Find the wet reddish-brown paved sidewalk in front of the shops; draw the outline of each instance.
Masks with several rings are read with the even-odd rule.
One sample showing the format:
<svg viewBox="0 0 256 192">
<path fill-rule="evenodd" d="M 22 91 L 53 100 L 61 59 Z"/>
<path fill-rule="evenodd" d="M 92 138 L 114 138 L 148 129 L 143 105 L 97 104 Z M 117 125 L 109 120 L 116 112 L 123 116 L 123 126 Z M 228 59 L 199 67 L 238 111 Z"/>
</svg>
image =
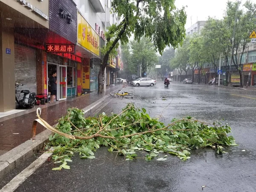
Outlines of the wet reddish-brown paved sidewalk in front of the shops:
<svg viewBox="0 0 256 192">
<path fill-rule="evenodd" d="M 64 116 L 68 108 L 85 108 L 102 97 L 109 95 L 113 90 L 121 89 L 121 86 L 121 84 L 117 84 L 115 86 L 106 87 L 105 94 L 98 95 L 97 91 L 94 91 L 72 99 L 40 105 L 37 106 L 37 108 L 42 108 L 41 117 L 44 120 L 50 125 L 55 125 L 56 120 Z M 37 119 L 35 111 L 36 108 L 33 108 L 0 118 L 0 156 L 31 139 L 32 122 Z M 36 134 L 44 130 L 46 130 L 46 128 L 38 123 Z"/>
</svg>

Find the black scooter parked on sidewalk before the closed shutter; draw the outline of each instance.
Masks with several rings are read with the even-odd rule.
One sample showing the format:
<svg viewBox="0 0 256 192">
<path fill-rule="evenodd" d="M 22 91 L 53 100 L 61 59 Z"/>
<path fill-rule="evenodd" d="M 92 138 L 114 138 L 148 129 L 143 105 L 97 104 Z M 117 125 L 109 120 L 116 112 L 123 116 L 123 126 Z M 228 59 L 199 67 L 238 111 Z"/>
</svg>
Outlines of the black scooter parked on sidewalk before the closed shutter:
<svg viewBox="0 0 256 192">
<path fill-rule="evenodd" d="M 25 84 L 18 84 L 15 83 L 15 100 L 17 102 L 17 108 L 32 108 L 36 104 L 36 99 L 35 99 L 35 93 L 31 93 L 29 90 L 21 90 L 20 93 L 23 93 L 22 99 L 18 100 L 20 97 L 17 96 L 18 88 L 19 86 L 26 86 Z"/>
</svg>

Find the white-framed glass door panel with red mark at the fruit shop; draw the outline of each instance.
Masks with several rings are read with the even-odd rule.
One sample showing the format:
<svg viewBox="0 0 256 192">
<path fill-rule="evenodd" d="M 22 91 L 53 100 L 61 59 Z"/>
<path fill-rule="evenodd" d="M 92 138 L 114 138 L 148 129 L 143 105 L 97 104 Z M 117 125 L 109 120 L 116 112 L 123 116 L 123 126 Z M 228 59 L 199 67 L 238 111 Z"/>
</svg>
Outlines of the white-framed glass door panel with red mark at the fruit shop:
<svg viewBox="0 0 256 192">
<path fill-rule="evenodd" d="M 58 66 L 58 100 L 67 99 L 67 66 Z"/>
</svg>

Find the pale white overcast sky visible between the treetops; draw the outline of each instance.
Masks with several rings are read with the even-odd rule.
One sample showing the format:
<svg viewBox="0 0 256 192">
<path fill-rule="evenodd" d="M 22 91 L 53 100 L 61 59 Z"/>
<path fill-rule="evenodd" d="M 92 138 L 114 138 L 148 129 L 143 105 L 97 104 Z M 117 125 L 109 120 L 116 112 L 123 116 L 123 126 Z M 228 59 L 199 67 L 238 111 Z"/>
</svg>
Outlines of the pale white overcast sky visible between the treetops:
<svg viewBox="0 0 256 192">
<path fill-rule="evenodd" d="M 187 6 L 187 29 L 191 26 L 191 17 L 192 24 L 196 23 L 197 20 L 207 20 L 208 16 L 215 16 L 217 19 L 221 19 L 223 17 L 224 10 L 226 9 L 227 1 L 228 0 L 176 0 L 175 5 L 179 9 L 182 6 Z M 235 2 L 236 0 L 231 1 Z M 245 1 L 246 0 L 242 0 L 242 4 Z M 252 1 L 256 3 L 256 0 Z"/>
</svg>

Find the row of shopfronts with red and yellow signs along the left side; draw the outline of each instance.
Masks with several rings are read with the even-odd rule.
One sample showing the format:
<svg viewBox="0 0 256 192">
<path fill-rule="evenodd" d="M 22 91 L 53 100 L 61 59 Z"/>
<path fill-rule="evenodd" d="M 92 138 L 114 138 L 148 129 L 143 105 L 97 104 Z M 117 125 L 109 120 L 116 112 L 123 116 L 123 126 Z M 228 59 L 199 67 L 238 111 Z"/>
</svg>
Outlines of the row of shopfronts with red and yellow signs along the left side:
<svg viewBox="0 0 256 192">
<path fill-rule="evenodd" d="M 54 72 L 56 100 L 97 90 L 110 8 L 111 0 L 0 0 L 0 112 L 15 109 L 15 82 L 49 95 Z M 113 73 L 120 64 L 116 55 Z"/>
</svg>

